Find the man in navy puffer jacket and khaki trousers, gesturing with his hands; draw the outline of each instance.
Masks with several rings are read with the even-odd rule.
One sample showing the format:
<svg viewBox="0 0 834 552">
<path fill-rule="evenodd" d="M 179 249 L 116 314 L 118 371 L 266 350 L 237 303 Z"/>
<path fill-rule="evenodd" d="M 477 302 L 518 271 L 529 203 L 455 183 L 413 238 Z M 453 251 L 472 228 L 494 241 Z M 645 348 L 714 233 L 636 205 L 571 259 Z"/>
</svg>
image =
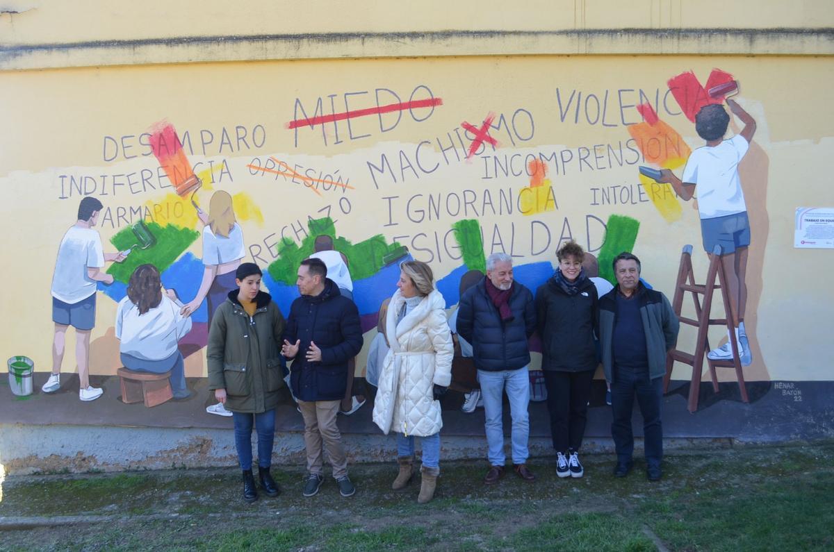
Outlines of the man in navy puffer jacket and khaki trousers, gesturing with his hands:
<svg viewBox="0 0 834 552">
<path fill-rule="evenodd" d="M 289 380 L 304 416 L 309 472 L 304 496 L 318 493 L 324 480 L 323 441 L 339 492 L 350 496 L 355 489 L 348 479 L 336 414 L 347 384 L 348 361 L 362 349 L 359 311 L 327 278 L 327 267 L 320 258 L 301 261 L 298 286 L 301 297 L 289 309 L 281 354 L 293 361 Z"/>
</svg>

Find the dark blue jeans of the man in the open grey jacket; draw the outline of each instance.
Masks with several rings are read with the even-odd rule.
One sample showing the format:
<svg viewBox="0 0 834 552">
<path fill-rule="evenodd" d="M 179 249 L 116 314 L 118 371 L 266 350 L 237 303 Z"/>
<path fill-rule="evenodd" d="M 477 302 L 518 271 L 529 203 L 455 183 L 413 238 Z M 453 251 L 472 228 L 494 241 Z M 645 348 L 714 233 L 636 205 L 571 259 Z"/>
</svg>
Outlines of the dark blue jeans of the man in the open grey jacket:
<svg viewBox="0 0 834 552">
<path fill-rule="evenodd" d="M 634 398 L 640 405 L 643 416 L 643 441 L 646 449 L 646 464 L 660 466 L 663 458 L 663 426 L 661 425 L 661 396 L 663 378 L 649 379 L 649 370 L 634 370 L 614 367 L 614 381 L 611 382 L 611 437 L 617 451 L 617 462 L 631 462 L 634 453 L 634 434 L 631 432 L 631 413 Z"/>
</svg>

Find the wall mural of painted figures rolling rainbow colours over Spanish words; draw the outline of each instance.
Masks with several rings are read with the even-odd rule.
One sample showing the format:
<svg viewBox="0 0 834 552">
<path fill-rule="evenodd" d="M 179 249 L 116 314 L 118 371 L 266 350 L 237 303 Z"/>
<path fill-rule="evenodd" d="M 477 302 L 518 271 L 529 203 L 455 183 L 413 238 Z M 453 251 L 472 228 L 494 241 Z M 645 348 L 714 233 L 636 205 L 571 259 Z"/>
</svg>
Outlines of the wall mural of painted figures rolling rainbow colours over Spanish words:
<svg viewBox="0 0 834 552">
<path fill-rule="evenodd" d="M 490 253 L 510 254 L 515 278 L 536 289 L 553 273 L 556 248 L 575 240 L 610 284 L 617 253 L 641 255 L 644 283 L 670 299 L 686 244 L 700 284 L 716 256 L 726 285 L 706 318 L 725 324 L 713 324 L 695 364 L 705 381 L 709 360 L 729 364 L 716 364 L 715 386 L 698 391 L 692 410 L 741 400 L 727 368 L 734 362 L 755 407 L 786 388 L 771 383 L 758 315 L 772 238 L 769 153 L 756 128 L 766 128 L 769 106 L 756 102 L 755 89 L 739 93 L 741 81 L 730 67 L 707 74 L 678 67 L 651 89 L 556 86 L 546 106 L 523 102 L 528 83 L 517 84 L 517 104 L 506 88 L 500 101 L 485 89 L 461 102 L 442 83 L 420 80 L 326 94 L 299 84 L 269 100 L 279 125 L 187 127 L 172 105 L 156 119 L 114 128 L 91 146 L 100 149 L 98 167 L 52 171 L 54 194 L 43 201 L 62 213 L 64 233 L 50 239 L 58 244 L 50 297 L 46 290 L 33 297 L 51 301 L 52 320 L 27 321 L 32 331 L 50 329 L 52 352 L 15 349 L 19 377 L 4 400 L 49 409 L 50 395 L 71 392 L 85 402 L 150 408 L 210 403 L 194 382 L 205 376 L 208 324 L 235 289 L 234 269 L 264 268 L 265 287 L 286 314 L 299 296 L 299 262 L 322 243 L 349 271 L 365 335 L 355 375 L 364 379 L 402 260 L 435 268 L 451 314 L 461 278 L 485 270 Z M 490 106 L 494 100 L 505 108 Z M 441 127 L 439 115 L 452 106 L 463 110 L 442 120 L 459 123 Z M 264 107 L 253 106 L 253 117 Z M 575 144 L 577 128 L 600 138 Z M 546 143 L 555 133 L 573 145 Z M 691 299 L 681 309 L 697 321 Z M 678 349 L 696 351 L 697 330 L 682 331 Z M 535 336 L 531 347 L 540 350 Z M 534 354 L 530 369 L 539 363 Z M 36 377 L 24 389 L 31 364 Z M 91 373 L 112 379 L 106 392 Z M 676 363 L 670 374 L 671 392 L 689 393 L 691 366 Z"/>
</svg>

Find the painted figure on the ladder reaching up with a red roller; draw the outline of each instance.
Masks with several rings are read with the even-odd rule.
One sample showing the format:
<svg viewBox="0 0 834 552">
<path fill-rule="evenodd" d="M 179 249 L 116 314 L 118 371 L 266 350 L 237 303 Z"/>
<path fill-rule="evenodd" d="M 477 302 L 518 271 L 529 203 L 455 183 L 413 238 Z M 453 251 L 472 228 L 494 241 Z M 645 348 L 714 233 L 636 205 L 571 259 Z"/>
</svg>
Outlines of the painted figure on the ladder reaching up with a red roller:
<svg viewBox="0 0 834 552">
<path fill-rule="evenodd" d="M 710 88 L 709 94 L 712 99 L 720 99 L 727 94 L 735 95 L 738 88 L 737 81 L 730 81 Z M 706 140 L 706 146 L 692 152 L 686 161 L 682 178 L 677 178 L 669 169 L 662 169 L 657 181 L 670 183 L 684 200 L 692 198 L 696 191 L 698 193 L 704 248 L 711 252 L 716 245 L 721 245 L 721 263 L 727 274 L 729 288 L 729 315 L 735 328 L 735 334 L 728 335 L 728 338 L 736 339 L 741 364 L 746 366 L 752 362 L 744 327 L 750 223 L 741 190 L 738 164 L 747 153 L 753 134 L 756 133 L 756 121 L 735 100 L 727 99 L 726 104 L 744 124 L 741 133 L 725 140 L 724 134 L 730 123 L 729 114 L 720 103 L 702 107 L 696 114 L 695 128 L 698 135 Z M 707 358 L 732 359 L 731 342 L 711 350 Z"/>
</svg>

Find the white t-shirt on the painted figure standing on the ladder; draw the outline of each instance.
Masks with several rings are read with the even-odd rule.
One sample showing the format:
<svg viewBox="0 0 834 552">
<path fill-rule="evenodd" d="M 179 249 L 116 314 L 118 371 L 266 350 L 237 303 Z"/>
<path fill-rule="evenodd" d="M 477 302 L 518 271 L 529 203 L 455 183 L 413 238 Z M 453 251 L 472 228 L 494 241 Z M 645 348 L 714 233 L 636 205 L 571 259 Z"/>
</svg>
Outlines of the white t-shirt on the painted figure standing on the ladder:
<svg viewBox="0 0 834 552">
<path fill-rule="evenodd" d="M 736 134 L 715 147 L 697 148 L 686 160 L 681 180 L 697 185 L 701 218 L 725 217 L 747 210 L 738 178 L 738 163 L 748 148 L 747 140 Z"/>
</svg>

